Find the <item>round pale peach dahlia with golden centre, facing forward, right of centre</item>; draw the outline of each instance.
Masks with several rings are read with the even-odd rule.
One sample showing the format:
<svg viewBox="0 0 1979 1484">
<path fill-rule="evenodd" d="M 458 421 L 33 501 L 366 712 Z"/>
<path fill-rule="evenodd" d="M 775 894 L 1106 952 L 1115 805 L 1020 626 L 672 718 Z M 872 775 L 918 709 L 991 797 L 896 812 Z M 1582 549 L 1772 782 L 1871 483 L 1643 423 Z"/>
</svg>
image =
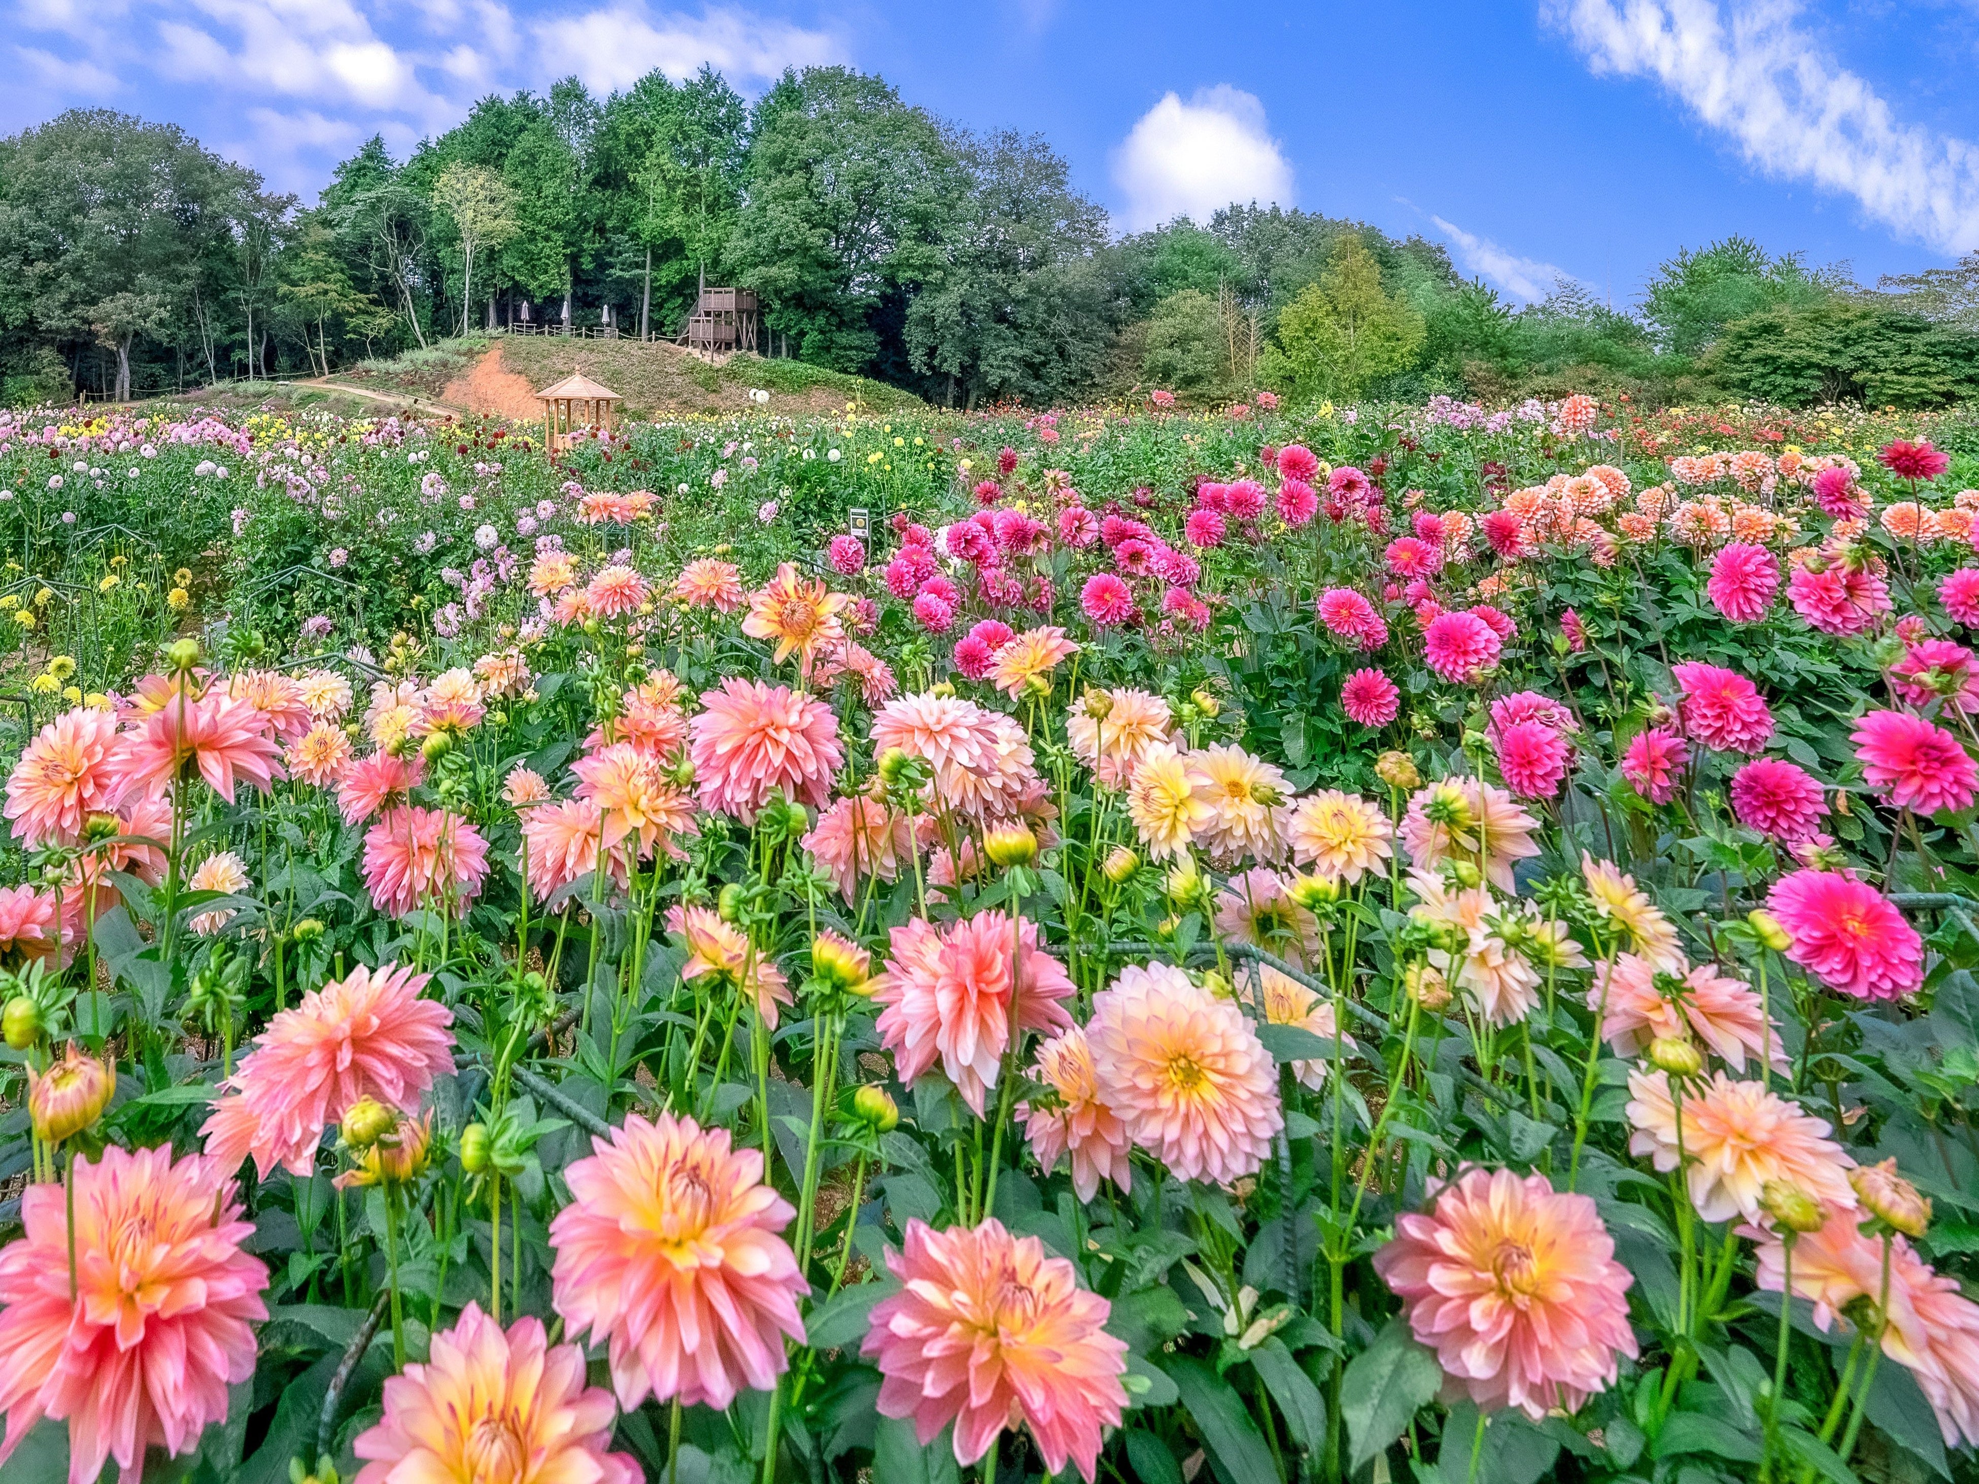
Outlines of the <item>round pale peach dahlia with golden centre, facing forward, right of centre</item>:
<svg viewBox="0 0 1979 1484">
<path fill-rule="evenodd" d="M 1170 964 L 1130 964 L 1092 999 L 1098 1096 L 1181 1179 L 1257 1173 L 1284 1126 L 1278 1074 L 1245 1013 Z"/>
</svg>

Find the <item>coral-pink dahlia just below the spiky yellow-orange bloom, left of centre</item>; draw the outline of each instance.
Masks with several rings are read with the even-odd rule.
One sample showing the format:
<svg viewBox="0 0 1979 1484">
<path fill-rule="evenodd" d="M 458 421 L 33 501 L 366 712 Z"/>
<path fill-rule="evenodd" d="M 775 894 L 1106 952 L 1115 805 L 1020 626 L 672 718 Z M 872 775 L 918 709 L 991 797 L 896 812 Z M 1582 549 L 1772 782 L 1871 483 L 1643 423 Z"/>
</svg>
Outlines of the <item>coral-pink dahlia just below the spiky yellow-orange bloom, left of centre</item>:
<svg viewBox="0 0 1979 1484">
<path fill-rule="evenodd" d="M 689 724 L 701 803 L 756 823 L 778 793 L 821 809 L 831 778 L 845 762 L 839 718 L 823 700 L 788 687 L 730 677 L 701 693 L 703 710 Z"/>
</svg>

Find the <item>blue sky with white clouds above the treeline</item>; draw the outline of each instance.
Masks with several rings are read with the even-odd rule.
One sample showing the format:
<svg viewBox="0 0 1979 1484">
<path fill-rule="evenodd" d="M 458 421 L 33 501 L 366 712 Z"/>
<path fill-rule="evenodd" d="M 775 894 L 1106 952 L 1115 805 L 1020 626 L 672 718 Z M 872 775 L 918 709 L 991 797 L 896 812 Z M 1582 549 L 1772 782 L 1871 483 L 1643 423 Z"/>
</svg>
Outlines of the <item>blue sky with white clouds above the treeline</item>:
<svg viewBox="0 0 1979 1484">
<path fill-rule="evenodd" d="M 170 119 L 305 200 L 487 91 L 712 61 L 887 75 L 1043 133 L 1116 230 L 1276 200 L 1421 232 L 1512 299 L 1617 307 L 1743 232 L 1856 277 L 1979 249 L 1979 0 L 0 0 L 0 131 Z"/>
</svg>

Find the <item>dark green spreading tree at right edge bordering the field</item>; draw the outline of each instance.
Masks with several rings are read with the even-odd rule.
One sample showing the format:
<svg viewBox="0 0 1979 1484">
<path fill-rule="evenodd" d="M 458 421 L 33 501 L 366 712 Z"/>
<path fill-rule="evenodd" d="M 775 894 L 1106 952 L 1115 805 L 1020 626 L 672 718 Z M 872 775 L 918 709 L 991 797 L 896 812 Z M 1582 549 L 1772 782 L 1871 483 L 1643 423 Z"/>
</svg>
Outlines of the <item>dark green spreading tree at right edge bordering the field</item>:
<svg viewBox="0 0 1979 1484">
<path fill-rule="evenodd" d="M 1787 406 L 1928 408 L 1979 392 L 1979 336 L 1837 295 L 1734 321 L 1704 366 L 1734 392 Z"/>
</svg>

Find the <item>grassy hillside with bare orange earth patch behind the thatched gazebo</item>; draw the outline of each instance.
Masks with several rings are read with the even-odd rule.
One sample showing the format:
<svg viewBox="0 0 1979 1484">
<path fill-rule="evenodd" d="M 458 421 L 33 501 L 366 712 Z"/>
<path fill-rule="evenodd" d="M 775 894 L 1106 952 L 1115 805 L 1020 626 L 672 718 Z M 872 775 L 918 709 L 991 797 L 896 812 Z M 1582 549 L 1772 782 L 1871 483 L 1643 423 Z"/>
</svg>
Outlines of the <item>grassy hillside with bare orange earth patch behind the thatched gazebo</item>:
<svg viewBox="0 0 1979 1484">
<path fill-rule="evenodd" d="M 574 368 L 623 394 L 633 417 L 746 412 L 758 406 L 748 396 L 758 388 L 770 392 L 768 410 L 784 414 L 829 412 L 847 402 L 875 412 L 920 406 L 918 398 L 883 382 L 798 360 L 736 356 L 726 366 L 708 366 L 675 344 L 534 334 L 441 340 L 394 360 L 364 362 L 338 372 L 336 380 L 469 412 L 534 417 L 532 392 Z"/>
</svg>

